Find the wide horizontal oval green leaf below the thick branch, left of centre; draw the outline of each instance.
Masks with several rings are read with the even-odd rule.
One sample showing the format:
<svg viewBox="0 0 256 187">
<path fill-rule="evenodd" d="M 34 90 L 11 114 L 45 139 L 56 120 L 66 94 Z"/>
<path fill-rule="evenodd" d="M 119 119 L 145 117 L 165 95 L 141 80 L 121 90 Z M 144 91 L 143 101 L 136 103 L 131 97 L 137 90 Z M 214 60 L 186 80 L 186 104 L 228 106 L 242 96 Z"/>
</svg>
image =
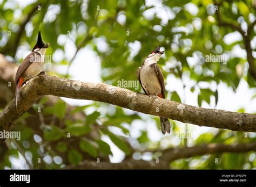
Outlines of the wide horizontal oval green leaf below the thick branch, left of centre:
<svg viewBox="0 0 256 187">
<path fill-rule="evenodd" d="M 69 125 L 65 130 L 73 136 L 81 136 L 89 133 L 91 131 L 91 127 L 89 125 L 78 123 Z"/>
</svg>

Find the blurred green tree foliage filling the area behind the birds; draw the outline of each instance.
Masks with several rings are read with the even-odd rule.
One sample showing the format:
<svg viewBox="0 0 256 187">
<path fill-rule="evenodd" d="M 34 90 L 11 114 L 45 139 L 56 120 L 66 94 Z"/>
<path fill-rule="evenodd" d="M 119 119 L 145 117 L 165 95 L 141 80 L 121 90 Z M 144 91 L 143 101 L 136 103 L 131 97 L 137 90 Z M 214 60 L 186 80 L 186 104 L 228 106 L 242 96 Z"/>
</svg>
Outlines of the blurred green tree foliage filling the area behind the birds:
<svg viewBox="0 0 256 187">
<path fill-rule="evenodd" d="M 13 44 L 16 44 L 14 42 L 18 41 L 17 45 L 32 48 L 35 45 L 37 32 L 41 30 L 43 40 L 51 44 L 46 53 L 53 55 L 55 51 L 59 51 L 65 54 L 67 52 L 65 42 L 58 40 L 62 35 L 66 35 L 76 46 L 79 46 L 78 50 L 89 46 L 96 52 L 101 62 L 102 81 L 117 86 L 118 81 L 122 79 L 137 81 L 137 68 L 149 52 L 161 45 L 165 48 L 165 56 L 160 59 L 159 66 L 163 69 L 165 78 L 174 75 L 177 80 L 183 82 L 184 89 L 197 91 L 199 106 L 203 103 L 210 104 L 212 99 L 215 100 L 215 105 L 218 104 L 218 90 L 217 87 L 212 88 L 212 84 L 218 85 L 224 82 L 235 91 L 241 78 L 244 78 L 251 88 L 255 87 L 256 80 L 248 73 L 247 59 L 230 56 L 226 64 L 205 62 L 206 55 L 230 53 L 235 46 L 245 48 L 243 40 L 232 44 L 224 42 L 225 35 L 234 30 L 228 26 L 219 26 L 212 0 L 164 1 L 157 7 L 149 6 L 146 2 L 119 0 L 86 3 L 54 0 L 39 1 L 27 6 L 14 3 L 15 6 L 9 8 L 11 2 L 3 1 L 0 4 L 0 52 L 21 62 L 22 59 L 17 59 L 17 54 L 13 50 L 15 48 Z M 25 32 L 29 30 L 26 28 L 19 35 L 26 15 L 29 15 L 38 3 L 42 4 L 41 9 L 33 13 L 30 21 L 26 23 L 26 27 L 33 27 L 31 33 Z M 188 3 L 198 9 L 198 12 L 193 14 L 187 9 Z M 236 25 L 239 25 L 239 20 L 250 25 L 250 17 L 254 16 L 255 19 L 256 9 L 253 8 L 251 0 L 223 2 L 218 9 L 224 20 Z M 151 15 L 145 16 L 147 12 L 151 12 Z M 8 36 L 9 32 L 11 35 Z M 250 40 L 255 38 L 255 32 L 254 26 Z M 97 39 L 103 40 L 107 49 L 100 48 Z M 133 51 L 133 45 L 139 46 L 138 51 Z M 191 63 L 191 59 L 194 59 L 194 63 Z M 67 67 L 69 63 L 72 62 L 66 56 L 63 56 L 59 62 L 52 61 L 49 74 L 65 77 L 65 74 L 60 74 L 55 69 L 59 66 Z M 239 71 L 241 68 L 242 70 Z M 193 80 L 192 86 L 185 84 L 184 76 Z M 203 82 L 211 84 L 207 84 L 207 88 L 200 87 L 200 83 Z M 138 91 L 135 88 L 129 89 Z M 166 91 L 169 99 L 183 102 L 177 91 Z M 43 117 L 51 119 L 49 123 L 25 124 L 26 118 L 38 115 L 37 107 L 33 107 L 34 112 L 25 113 L 15 127 L 15 131 L 22 132 L 22 139 L 18 144 L 25 153 L 31 155 L 34 168 L 61 168 L 69 164 L 78 164 L 86 159 L 95 160 L 98 157 L 108 160 L 108 156 L 113 154 L 113 149 L 103 137 L 109 138 L 126 157 L 136 154 L 138 150 L 184 146 L 184 138 L 177 138 L 176 134 L 185 132 L 185 124 L 177 121 L 171 121 L 173 124 L 171 135 L 153 140 L 146 128 L 153 121 L 153 125 L 157 126 L 155 131 L 159 129 L 158 118 L 98 102 L 88 106 L 77 106 L 72 111 L 67 111 L 68 106 L 62 99 L 59 99 L 55 106 L 46 105 L 47 101 L 44 99 L 42 98 L 38 106 L 42 107 Z M 93 109 L 93 112 L 86 118 L 67 117 L 76 116 L 89 108 Z M 99 108 L 100 112 L 96 108 Z M 101 112 L 104 110 L 106 112 Z M 131 133 L 134 124 L 143 124 L 146 127 L 138 130 L 139 135 L 134 135 Z M 188 126 L 191 126 L 190 131 L 195 133 L 192 125 Z M 212 131 L 210 128 L 208 131 L 185 142 L 189 145 L 200 145 L 255 140 L 254 133 L 245 136 L 243 132 Z M 25 146 L 26 144 L 28 146 Z M 46 155 L 53 161 L 48 159 L 39 164 L 38 158 L 43 159 Z M 62 162 L 56 162 L 56 156 L 60 156 Z M 10 157 L 18 157 L 18 150 L 13 145 L 6 150 L 4 158 L 0 161 L 1 168 L 14 168 L 10 163 Z M 216 158 L 219 159 L 218 162 L 215 162 Z M 251 169 L 256 167 L 256 162 L 255 153 L 226 153 L 179 159 L 173 161 L 170 166 L 173 169 Z"/>
</svg>

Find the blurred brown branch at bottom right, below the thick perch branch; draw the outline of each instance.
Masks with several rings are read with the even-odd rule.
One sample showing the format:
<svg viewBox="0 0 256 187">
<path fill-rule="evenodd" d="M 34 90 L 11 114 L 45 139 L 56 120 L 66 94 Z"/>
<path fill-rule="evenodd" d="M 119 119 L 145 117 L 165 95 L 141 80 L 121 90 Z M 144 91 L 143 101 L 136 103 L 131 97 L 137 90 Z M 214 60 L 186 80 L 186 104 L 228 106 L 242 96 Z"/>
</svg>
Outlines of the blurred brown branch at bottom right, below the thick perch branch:
<svg viewBox="0 0 256 187">
<path fill-rule="evenodd" d="M 169 148 L 163 151 L 163 155 L 156 160 L 125 160 L 121 163 L 83 161 L 77 166 L 66 166 L 64 169 L 169 169 L 170 162 L 193 156 L 215 153 L 243 153 L 256 150 L 256 142 L 240 143 L 234 145 L 209 144 L 185 148 Z"/>
</svg>

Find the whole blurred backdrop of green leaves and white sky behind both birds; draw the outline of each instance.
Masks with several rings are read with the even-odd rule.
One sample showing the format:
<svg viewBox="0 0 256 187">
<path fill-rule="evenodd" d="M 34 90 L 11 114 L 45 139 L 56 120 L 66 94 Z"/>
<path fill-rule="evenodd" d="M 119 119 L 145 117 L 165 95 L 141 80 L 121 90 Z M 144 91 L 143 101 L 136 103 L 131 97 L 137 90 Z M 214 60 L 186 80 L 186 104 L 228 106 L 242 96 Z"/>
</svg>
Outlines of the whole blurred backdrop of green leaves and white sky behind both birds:
<svg viewBox="0 0 256 187">
<path fill-rule="evenodd" d="M 210 109 L 256 113 L 256 2 L 0 0 L 0 110 L 14 98 L 17 67 L 36 44 L 50 43 L 45 71 L 119 86 L 137 81 L 158 45 L 166 99 Z M 223 55 L 225 62 L 206 61 Z M 8 86 L 8 83 L 11 85 Z M 141 87 L 128 87 L 143 92 Z M 172 147 L 248 143 L 255 133 L 199 127 L 118 106 L 42 97 L 17 122 L 21 140 L 0 144 L 1 169 L 58 169 L 82 161 L 154 161 Z M 71 134 L 68 137 L 67 134 Z M 170 169 L 255 169 L 255 152 L 173 160 Z M 86 168 L 85 168 L 86 169 Z"/>
</svg>

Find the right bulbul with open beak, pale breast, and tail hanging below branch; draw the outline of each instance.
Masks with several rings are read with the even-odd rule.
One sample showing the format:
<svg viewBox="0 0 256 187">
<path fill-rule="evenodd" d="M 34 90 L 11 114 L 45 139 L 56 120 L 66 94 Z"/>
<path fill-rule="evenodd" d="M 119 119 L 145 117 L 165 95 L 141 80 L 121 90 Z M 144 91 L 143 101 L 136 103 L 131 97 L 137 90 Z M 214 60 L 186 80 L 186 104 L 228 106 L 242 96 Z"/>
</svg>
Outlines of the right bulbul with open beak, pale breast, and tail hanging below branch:
<svg viewBox="0 0 256 187">
<path fill-rule="evenodd" d="M 157 62 L 162 54 L 164 54 L 164 52 L 160 51 L 160 46 L 154 49 L 154 51 L 146 57 L 142 66 L 139 67 L 137 78 L 147 95 L 156 95 L 160 98 L 165 98 L 164 75 L 157 66 Z M 160 125 L 163 134 L 166 132 L 170 133 L 171 125 L 169 119 L 160 117 Z"/>
</svg>

